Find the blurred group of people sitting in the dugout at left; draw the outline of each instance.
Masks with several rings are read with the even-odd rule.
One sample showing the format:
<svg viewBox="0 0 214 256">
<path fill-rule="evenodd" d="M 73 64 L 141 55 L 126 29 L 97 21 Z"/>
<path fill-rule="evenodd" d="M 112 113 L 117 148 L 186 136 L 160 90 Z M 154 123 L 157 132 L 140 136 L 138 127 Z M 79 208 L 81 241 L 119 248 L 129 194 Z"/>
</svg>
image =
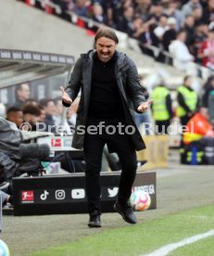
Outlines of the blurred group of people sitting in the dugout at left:
<svg viewBox="0 0 214 256">
<path fill-rule="evenodd" d="M 18 84 L 16 86 L 16 103 L 7 107 L 2 104 L 1 116 L 9 122 L 14 122 L 19 130 L 31 132 L 37 130 L 56 135 L 72 133 L 78 100 L 67 109 L 65 119 L 62 120 L 63 106 L 60 96 L 37 100 L 31 98 L 30 94 L 29 83 Z M 43 126 L 39 126 L 38 123 L 43 123 Z M 57 129 L 59 126 L 61 129 Z"/>
</svg>

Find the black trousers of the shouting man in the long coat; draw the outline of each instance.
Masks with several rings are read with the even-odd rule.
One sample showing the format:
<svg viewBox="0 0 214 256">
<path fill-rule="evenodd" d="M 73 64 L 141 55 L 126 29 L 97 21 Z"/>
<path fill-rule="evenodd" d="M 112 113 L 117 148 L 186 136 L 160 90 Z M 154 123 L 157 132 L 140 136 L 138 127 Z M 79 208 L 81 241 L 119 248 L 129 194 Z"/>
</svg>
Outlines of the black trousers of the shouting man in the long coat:
<svg viewBox="0 0 214 256">
<path fill-rule="evenodd" d="M 87 126 L 97 126 L 100 121 L 90 119 L 87 122 Z M 105 126 L 114 126 L 117 128 L 117 123 L 122 122 L 120 120 L 105 121 Z M 124 125 L 125 123 L 122 122 Z M 109 127 L 109 126 L 108 126 Z M 112 128 L 113 129 L 113 128 Z M 111 130 L 112 130 L 111 129 Z M 87 130 L 87 129 L 86 129 Z M 118 153 L 121 164 L 120 184 L 118 200 L 127 202 L 132 193 L 132 185 L 136 176 L 137 160 L 135 147 L 132 142 L 130 134 L 121 134 L 118 129 L 116 133 L 110 131 L 109 134 L 106 128 L 102 129 L 96 134 L 86 133 L 84 137 L 84 155 L 85 155 L 85 189 L 88 200 L 89 213 L 96 210 L 101 214 L 100 208 L 100 170 L 102 163 L 103 148 L 107 144 L 107 147 L 114 149 L 114 152 Z"/>
</svg>

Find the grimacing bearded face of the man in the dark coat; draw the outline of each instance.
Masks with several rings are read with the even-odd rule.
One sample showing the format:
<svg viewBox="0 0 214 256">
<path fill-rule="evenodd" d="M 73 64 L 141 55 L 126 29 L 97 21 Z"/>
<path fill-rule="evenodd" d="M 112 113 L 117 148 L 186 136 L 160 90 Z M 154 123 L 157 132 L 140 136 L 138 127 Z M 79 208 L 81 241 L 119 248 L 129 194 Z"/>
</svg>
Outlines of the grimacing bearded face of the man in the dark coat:
<svg viewBox="0 0 214 256">
<path fill-rule="evenodd" d="M 95 48 L 98 58 L 103 62 L 107 62 L 115 53 L 116 43 L 114 40 L 107 37 L 100 37 L 95 43 Z"/>
</svg>

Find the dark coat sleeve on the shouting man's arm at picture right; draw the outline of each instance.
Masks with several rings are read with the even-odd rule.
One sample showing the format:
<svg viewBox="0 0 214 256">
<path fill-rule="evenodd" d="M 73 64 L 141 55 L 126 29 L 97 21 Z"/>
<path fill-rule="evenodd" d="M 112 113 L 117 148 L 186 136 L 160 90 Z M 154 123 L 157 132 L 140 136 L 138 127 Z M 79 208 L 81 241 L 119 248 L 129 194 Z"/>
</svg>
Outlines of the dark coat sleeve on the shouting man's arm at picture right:
<svg viewBox="0 0 214 256">
<path fill-rule="evenodd" d="M 128 59 L 129 69 L 127 72 L 127 93 L 132 100 L 133 108 L 137 108 L 145 102 L 145 96 L 141 87 L 137 68 L 131 58 Z"/>
</svg>

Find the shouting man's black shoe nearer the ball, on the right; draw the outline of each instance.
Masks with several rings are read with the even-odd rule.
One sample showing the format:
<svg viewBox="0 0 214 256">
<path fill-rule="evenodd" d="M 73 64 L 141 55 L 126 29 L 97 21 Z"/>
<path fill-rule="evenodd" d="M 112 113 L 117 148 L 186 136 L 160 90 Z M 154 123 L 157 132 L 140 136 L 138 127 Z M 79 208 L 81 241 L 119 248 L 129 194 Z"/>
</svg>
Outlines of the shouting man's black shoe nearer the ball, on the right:
<svg viewBox="0 0 214 256">
<path fill-rule="evenodd" d="M 129 224 L 136 224 L 137 218 L 133 214 L 132 207 L 130 203 L 124 203 L 121 204 L 119 201 L 117 201 L 114 205 L 114 210 L 119 212 L 122 216 L 123 220 Z"/>
</svg>

